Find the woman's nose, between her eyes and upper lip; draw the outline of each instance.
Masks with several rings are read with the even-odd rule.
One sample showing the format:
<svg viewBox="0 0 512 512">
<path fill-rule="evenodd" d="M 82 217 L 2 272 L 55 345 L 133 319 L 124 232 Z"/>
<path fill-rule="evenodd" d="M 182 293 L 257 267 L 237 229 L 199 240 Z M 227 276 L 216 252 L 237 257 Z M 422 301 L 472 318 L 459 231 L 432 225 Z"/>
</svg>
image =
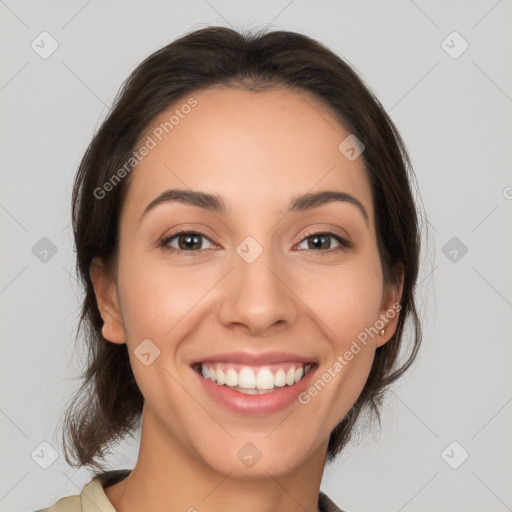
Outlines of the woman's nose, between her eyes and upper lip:
<svg viewBox="0 0 512 512">
<path fill-rule="evenodd" d="M 251 263 L 234 255 L 218 309 L 219 320 L 226 327 L 263 335 L 297 320 L 300 300 L 293 290 L 293 278 L 277 265 L 271 252 L 263 250 Z"/>
</svg>

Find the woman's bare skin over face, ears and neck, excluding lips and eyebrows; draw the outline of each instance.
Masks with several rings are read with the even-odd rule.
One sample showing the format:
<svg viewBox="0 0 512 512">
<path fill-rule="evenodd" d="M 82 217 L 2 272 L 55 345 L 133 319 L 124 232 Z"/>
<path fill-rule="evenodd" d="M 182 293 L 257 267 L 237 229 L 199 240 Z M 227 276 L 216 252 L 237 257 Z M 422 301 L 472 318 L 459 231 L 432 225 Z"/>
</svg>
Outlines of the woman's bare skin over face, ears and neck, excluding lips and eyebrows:
<svg viewBox="0 0 512 512">
<path fill-rule="evenodd" d="M 262 417 L 213 402 L 189 361 L 278 350 L 311 356 L 320 376 L 399 301 L 401 287 L 384 286 L 364 162 L 338 150 L 349 132 L 323 103 L 286 89 L 217 88 L 193 96 L 198 105 L 132 171 L 117 280 L 97 258 L 91 265 L 103 336 L 128 344 L 145 398 L 137 464 L 105 493 L 118 512 L 313 512 L 329 434 L 359 396 L 398 314 L 310 403 Z M 173 202 L 139 222 L 169 188 L 218 194 L 228 214 Z M 319 190 L 353 195 L 368 222 L 349 202 L 286 214 L 292 198 Z M 201 255 L 158 247 L 185 228 L 206 234 Z M 311 248 L 308 229 L 334 229 L 352 247 L 327 237 L 326 249 Z M 236 252 L 247 236 L 263 248 L 250 264 Z M 171 244 L 187 250 L 179 237 Z M 134 355 L 147 338 L 160 350 L 149 366 Z M 247 442 L 262 454 L 250 468 L 237 458 Z"/>
</svg>

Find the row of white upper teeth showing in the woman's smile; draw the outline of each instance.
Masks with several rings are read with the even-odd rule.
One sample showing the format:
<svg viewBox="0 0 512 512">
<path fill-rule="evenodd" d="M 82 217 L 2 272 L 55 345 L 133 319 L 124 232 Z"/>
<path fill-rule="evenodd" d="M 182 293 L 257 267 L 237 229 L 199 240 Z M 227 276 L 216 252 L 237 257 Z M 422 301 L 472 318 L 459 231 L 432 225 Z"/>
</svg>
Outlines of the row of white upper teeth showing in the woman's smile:
<svg viewBox="0 0 512 512">
<path fill-rule="evenodd" d="M 228 386 L 235 388 L 236 391 L 246 394 L 262 394 L 275 390 L 274 388 L 281 388 L 284 386 L 293 386 L 303 379 L 312 368 L 312 364 L 307 365 L 291 365 L 288 371 L 285 372 L 283 368 L 278 368 L 273 373 L 270 368 L 262 367 L 256 374 L 252 368 L 244 366 L 237 372 L 234 368 L 227 368 L 224 365 L 225 371 L 222 368 L 215 367 L 216 365 L 201 365 L 201 373 L 205 379 L 216 382 L 220 386 Z"/>
</svg>

